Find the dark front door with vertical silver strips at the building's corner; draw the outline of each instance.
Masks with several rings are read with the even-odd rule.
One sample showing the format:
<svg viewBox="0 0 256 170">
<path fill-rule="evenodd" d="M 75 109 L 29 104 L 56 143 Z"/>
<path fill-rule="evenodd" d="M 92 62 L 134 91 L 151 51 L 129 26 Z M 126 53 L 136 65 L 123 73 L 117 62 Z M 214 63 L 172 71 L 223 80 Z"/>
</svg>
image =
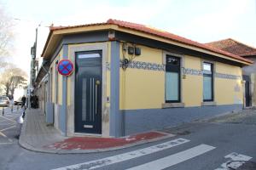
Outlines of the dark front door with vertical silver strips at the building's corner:
<svg viewBox="0 0 256 170">
<path fill-rule="evenodd" d="M 75 132 L 102 133 L 102 51 L 76 53 Z"/>
</svg>

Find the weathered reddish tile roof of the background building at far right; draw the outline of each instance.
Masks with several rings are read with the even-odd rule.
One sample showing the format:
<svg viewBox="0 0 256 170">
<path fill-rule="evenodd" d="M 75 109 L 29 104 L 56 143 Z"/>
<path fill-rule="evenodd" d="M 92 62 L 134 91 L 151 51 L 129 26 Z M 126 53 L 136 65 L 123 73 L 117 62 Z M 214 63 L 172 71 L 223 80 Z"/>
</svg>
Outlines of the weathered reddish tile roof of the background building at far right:
<svg viewBox="0 0 256 170">
<path fill-rule="evenodd" d="M 217 42 L 208 42 L 206 44 L 212 46 L 213 48 L 227 51 L 231 54 L 236 54 L 240 56 L 256 56 L 256 48 L 250 47 L 241 42 L 237 42 L 236 40 L 231 38 L 220 40 Z"/>
</svg>

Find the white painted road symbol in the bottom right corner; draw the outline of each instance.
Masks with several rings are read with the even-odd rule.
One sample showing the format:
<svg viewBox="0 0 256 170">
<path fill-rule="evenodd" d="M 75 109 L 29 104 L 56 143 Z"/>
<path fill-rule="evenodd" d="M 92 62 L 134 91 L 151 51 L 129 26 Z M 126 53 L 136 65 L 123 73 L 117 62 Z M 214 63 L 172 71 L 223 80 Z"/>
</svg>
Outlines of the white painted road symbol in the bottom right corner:
<svg viewBox="0 0 256 170">
<path fill-rule="evenodd" d="M 230 159 L 230 161 L 226 161 L 223 164 L 221 164 L 220 167 L 218 167 L 215 170 L 230 170 L 231 169 L 237 169 L 238 167 L 241 167 L 242 164 L 245 163 L 245 161 L 249 161 L 253 157 L 245 156 L 241 154 L 237 154 L 236 152 L 230 153 L 227 156 L 224 156 L 226 159 Z"/>
</svg>

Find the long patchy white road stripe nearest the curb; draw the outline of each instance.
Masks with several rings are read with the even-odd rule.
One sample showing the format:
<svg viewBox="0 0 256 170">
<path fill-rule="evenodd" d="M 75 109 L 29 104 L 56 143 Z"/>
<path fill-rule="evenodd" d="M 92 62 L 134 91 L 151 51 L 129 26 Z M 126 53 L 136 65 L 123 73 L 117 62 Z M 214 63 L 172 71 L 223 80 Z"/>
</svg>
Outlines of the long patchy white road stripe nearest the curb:
<svg viewBox="0 0 256 170">
<path fill-rule="evenodd" d="M 79 164 L 72 165 L 72 166 L 60 167 L 60 168 L 56 168 L 54 170 L 95 169 L 97 167 L 104 167 L 104 166 L 111 165 L 113 163 L 127 161 L 127 160 L 131 160 L 133 158 L 137 158 L 140 156 L 146 156 L 149 154 L 153 154 L 160 150 L 166 150 L 166 149 L 172 148 L 172 147 L 180 145 L 180 144 L 185 144 L 189 141 L 190 140 L 188 140 L 188 139 L 182 139 L 182 138 L 173 139 L 171 141 L 168 141 L 168 142 L 165 142 L 162 144 L 156 144 L 156 145 L 153 145 L 153 146 L 150 146 L 147 148 L 143 148 L 141 150 L 134 150 L 134 151 L 127 152 L 124 154 L 110 156 L 110 157 L 102 158 L 102 159 L 95 160 L 95 161 L 87 161 L 87 162 L 79 163 Z"/>
</svg>

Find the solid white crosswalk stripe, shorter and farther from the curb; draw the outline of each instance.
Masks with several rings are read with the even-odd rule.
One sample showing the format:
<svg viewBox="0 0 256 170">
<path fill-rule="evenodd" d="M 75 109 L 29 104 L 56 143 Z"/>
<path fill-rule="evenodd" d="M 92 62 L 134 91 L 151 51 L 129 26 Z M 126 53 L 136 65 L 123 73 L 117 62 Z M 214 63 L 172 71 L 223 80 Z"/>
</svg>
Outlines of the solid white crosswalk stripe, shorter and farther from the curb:
<svg viewBox="0 0 256 170">
<path fill-rule="evenodd" d="M 166 156 L 164 158 L 161 158 L 155 161 L 150 161 L 148 163 L 145 163 L 137 167 L 131 167 L 127 170 L 148 170 L 148 169 L 160 170 L 166 167 L 172 167 L 177 163 L 180 163 L 182 161 L 187 161 L 195 156 L 200 156 L 201 154 L 204 154 L 213 149 L 215 149 L 215 147 L 207 144 L 200 144 L 193 148 L 190 148 L 189 150 L 183 150 L 171 156 Z"/>
</svg>

